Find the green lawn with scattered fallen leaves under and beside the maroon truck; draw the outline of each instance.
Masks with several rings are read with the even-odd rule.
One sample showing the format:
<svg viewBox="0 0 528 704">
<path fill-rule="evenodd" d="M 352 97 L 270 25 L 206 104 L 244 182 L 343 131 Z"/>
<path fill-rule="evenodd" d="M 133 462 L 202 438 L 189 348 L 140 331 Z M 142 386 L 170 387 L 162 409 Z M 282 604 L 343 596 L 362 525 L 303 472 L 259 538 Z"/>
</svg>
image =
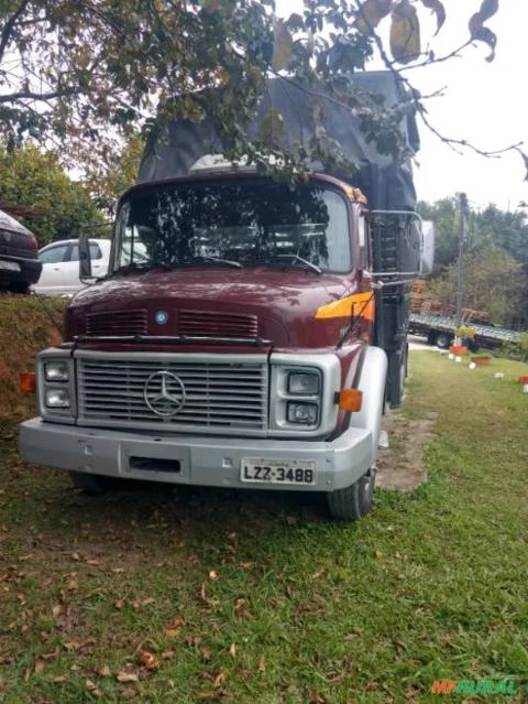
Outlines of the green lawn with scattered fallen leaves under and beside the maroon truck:
<svg viewBox="0 0 528 704">
<path fill-rule="evenodd" d="M 518 696 L 465 701 L 528 701 L 521 370 L 414 353 L 402 412 L 438 413 L 430 479 L 358 524 L 290 495 L 89 499 L 21 464 L 6 426 L 0 701 L 410 704 L 502 676 Z"/>
</svg>

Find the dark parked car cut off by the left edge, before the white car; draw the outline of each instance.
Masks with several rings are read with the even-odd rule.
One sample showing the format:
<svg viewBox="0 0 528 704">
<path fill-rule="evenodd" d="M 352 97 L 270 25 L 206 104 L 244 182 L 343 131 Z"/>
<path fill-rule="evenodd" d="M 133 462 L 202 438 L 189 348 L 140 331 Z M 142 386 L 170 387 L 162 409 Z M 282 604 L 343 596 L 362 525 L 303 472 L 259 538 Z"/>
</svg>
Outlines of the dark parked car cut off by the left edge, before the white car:
<svg viewBox="0 0 528 704">
<path fill-rule="evenodd" d="M 33 232 L 0 210 L 0 290 L 28 293 L 42 271 L 37 250 Z"/>
</svg>

